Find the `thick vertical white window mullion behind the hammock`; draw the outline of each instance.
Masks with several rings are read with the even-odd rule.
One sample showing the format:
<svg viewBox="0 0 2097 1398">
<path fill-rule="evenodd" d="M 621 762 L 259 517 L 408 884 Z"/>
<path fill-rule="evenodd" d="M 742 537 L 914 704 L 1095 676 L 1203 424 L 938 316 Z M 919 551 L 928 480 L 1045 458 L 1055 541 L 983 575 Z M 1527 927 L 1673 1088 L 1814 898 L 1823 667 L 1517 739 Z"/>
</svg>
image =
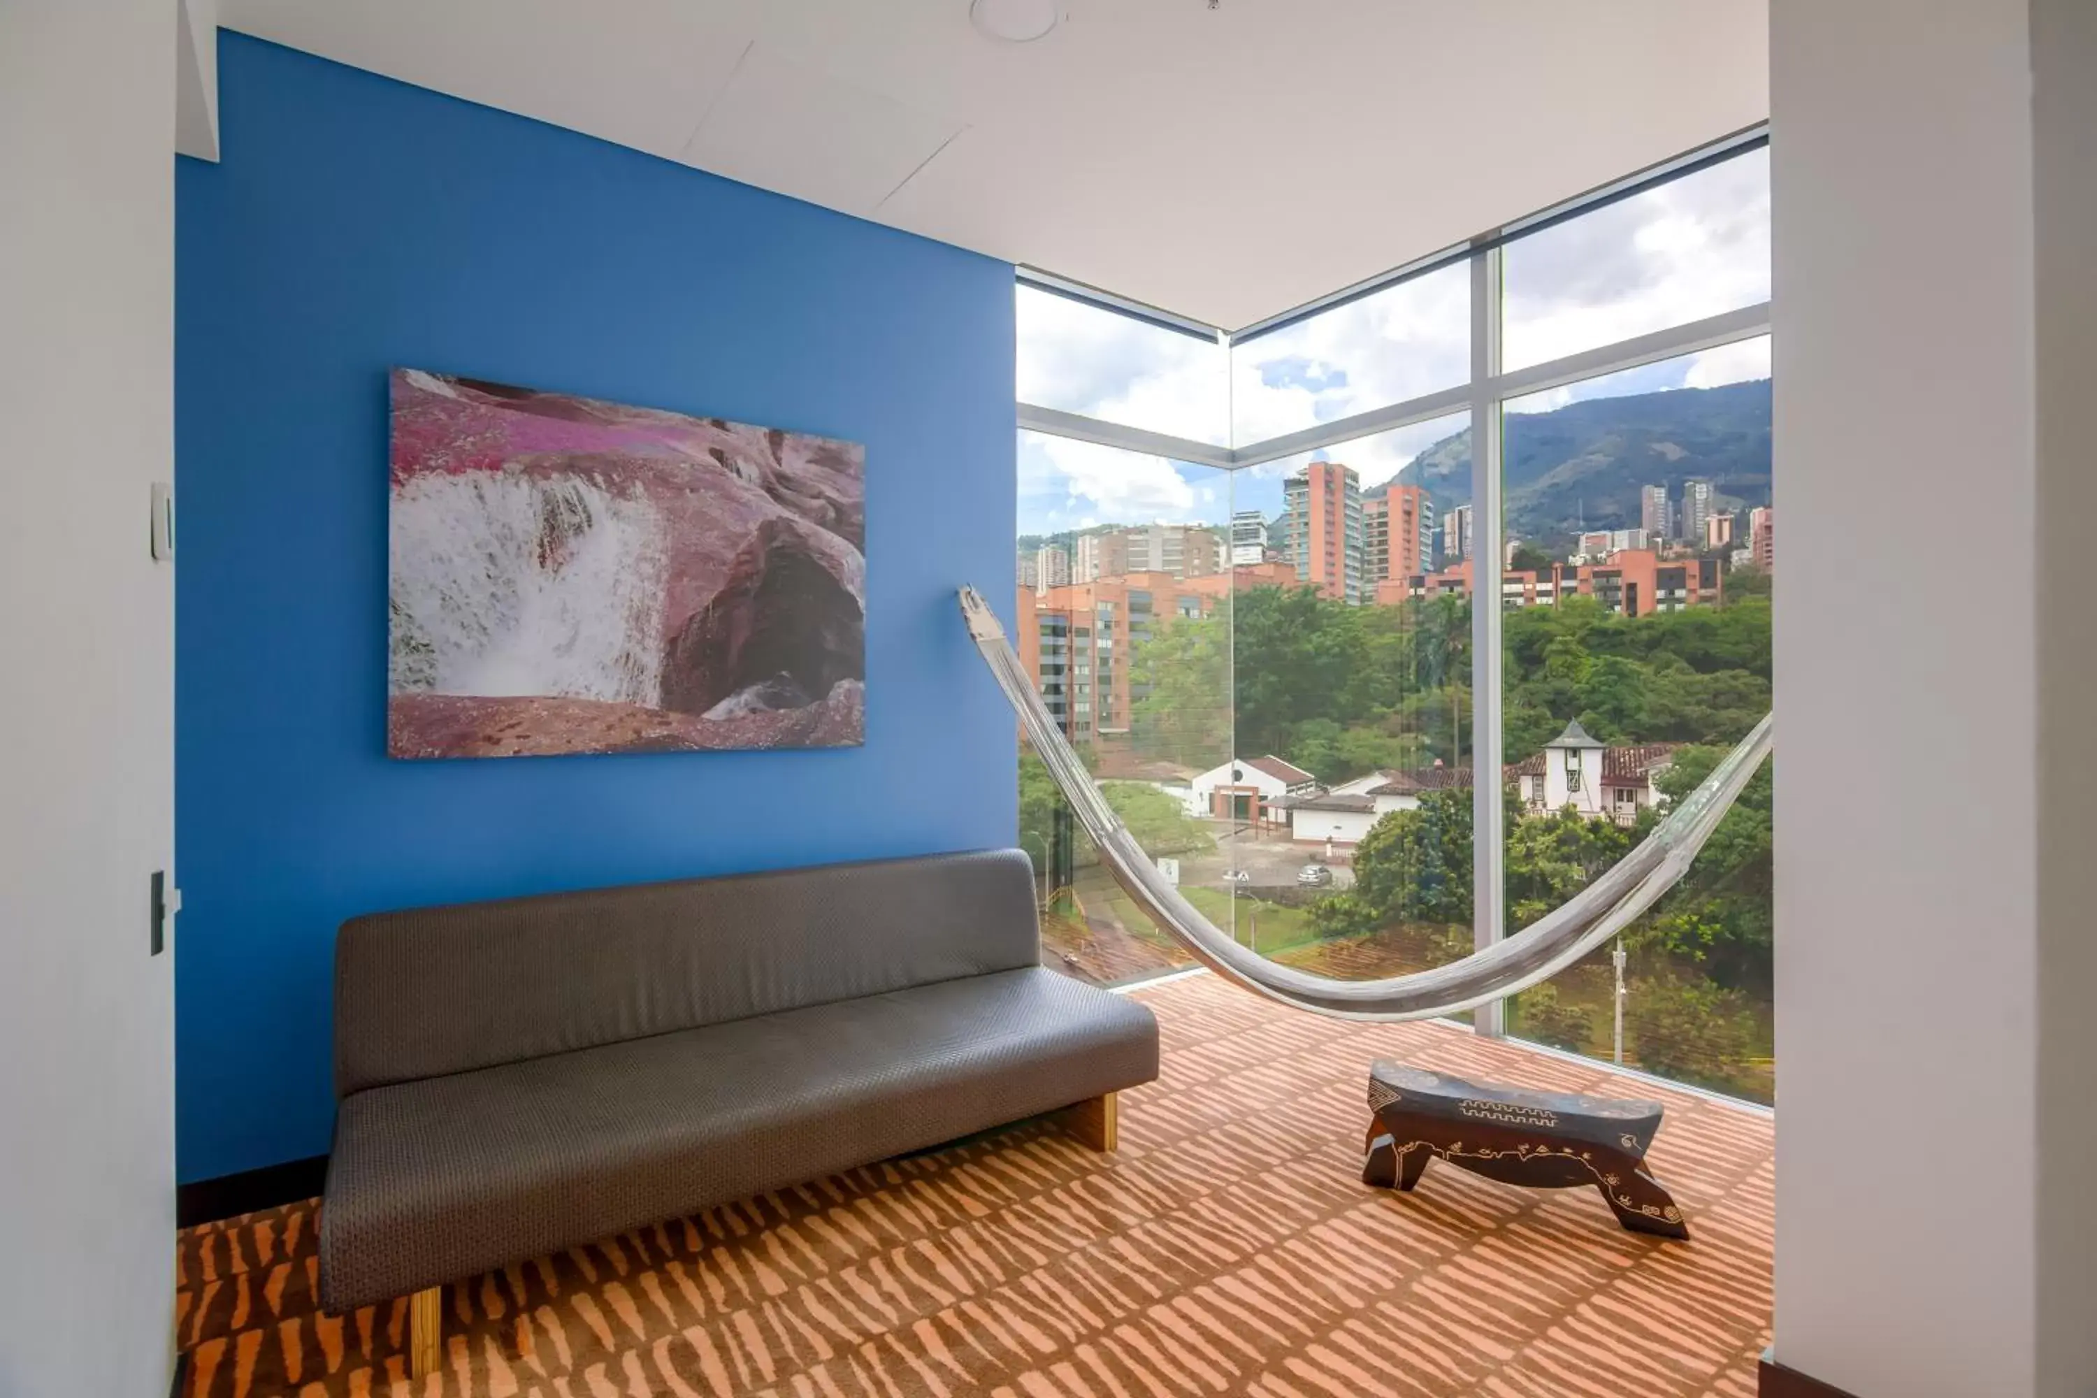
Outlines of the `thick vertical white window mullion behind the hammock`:
<svg viewBox="0 0 2097 1398">
<path fill-rule="evenodd" d="M 1472 763 L 1472 945 L 1480 952 L 1506 933 L 1506 811 L 1501 769 L 1501 648 L 1499 572 L 1506 551 L 1499 469 L 1499 249 L 1489 247 L 1470 264 L 1470 763 Z M 1472 1010 L 1472 1027 L 1489 1037 L 1506 1033 L 1506 1002 Z"/>
</svg>

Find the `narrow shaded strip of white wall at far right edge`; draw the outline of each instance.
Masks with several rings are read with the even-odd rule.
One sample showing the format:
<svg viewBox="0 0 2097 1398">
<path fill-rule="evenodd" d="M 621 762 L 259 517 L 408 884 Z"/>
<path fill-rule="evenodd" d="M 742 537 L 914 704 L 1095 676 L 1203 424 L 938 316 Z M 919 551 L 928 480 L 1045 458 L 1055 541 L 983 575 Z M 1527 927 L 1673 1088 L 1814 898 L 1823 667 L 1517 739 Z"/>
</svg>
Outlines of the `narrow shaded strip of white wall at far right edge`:
<svg viewBox="0 0 2097 1398">
<path fill-rule="evenodd" d="M 2097 4 L 2034 0 L 2038 1392 L 2097 1392 Z"/>
</svg>

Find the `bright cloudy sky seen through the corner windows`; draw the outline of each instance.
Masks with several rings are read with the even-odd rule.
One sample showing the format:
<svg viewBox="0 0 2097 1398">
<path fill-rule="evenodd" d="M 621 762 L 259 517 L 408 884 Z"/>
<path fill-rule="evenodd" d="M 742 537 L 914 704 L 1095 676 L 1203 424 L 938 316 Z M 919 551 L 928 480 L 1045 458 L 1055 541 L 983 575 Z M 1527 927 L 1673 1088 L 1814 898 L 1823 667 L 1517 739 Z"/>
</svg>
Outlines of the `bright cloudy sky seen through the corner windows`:
<svg viewBox="0 0 2097 1398">
<path fill-rule="evenodd" d="M 1392 260 L 1409 252 L 1392 249 Z M 1770 161 L 1751 151 L 1510 243 L 1504 361 L 1520 369 L 1770 296 Z M 1021 287 L 1019 400 L 1212 444 L 1250 444 L 1462 384 L 1470 369 L 1470 270 L 1451 266 L 1235 346 Z M 1535 394 L 1510 411 L 1770 373 L 1770 342 Z M 1380 484 L 1468 415 L 1315 453 Z M 1019 434 L 1019 532 L 1151 520 L 1220 524 L 1281 509 L 1281 478 L 1309 457 L 1214 472 L 1088 442 Z"/>
</svg>

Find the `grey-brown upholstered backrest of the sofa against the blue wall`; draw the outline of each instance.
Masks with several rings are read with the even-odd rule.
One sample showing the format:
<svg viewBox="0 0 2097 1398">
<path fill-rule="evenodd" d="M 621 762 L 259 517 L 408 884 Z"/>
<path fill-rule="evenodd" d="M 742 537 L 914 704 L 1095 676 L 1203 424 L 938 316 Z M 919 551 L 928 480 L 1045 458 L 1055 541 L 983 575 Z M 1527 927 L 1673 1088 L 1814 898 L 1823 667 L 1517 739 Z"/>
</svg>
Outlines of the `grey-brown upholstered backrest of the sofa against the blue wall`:
<svg viewBox="0 0 2097 1398">
<path fill-rule="evenodd" d="M 1017 849 L 352 918 L 336 1096 L 1034 966 Z"/>
</svg>

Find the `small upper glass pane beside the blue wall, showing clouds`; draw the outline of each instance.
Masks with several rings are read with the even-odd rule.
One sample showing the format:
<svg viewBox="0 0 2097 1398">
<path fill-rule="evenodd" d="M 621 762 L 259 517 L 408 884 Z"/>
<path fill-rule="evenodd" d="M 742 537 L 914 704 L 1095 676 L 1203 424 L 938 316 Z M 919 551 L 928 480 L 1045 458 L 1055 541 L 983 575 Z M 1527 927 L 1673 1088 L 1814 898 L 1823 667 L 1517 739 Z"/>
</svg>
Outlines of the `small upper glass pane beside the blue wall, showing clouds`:
<svg viewBox="0 0 2097 1398">
<path fill-rule="evenodd" d="M 1015 289 L 1019 402 L 1227 446 L 1229 358 L 1212 340 Z"/>
</svg>

